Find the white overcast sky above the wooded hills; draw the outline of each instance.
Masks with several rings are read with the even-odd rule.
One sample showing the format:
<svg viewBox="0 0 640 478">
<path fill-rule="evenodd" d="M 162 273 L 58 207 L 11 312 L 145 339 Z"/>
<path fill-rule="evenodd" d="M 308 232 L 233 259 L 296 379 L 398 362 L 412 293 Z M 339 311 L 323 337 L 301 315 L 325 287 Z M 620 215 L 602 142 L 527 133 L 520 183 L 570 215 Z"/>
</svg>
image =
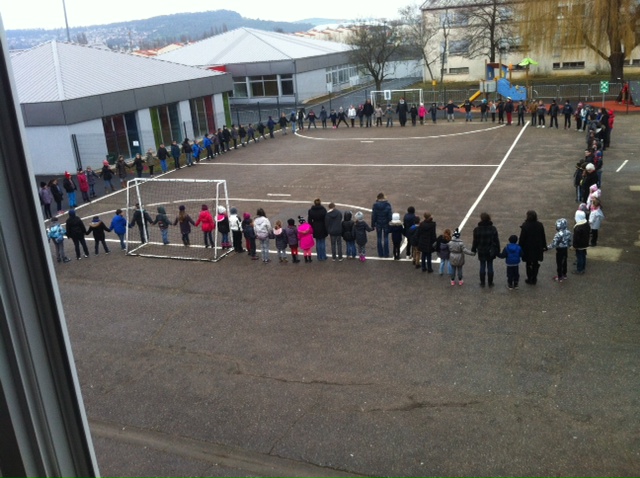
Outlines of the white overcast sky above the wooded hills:
<svg viewBox="0 0 640 478">
<path fill-rule="evenodd" d="M 396 18 L 398 8 L 410 3 L 370 0 L 65 0 L 69 27 L 140 20 L 172 13 L 232 10 L 246 18 L 298 21 L 305 18 Z M 184 10 L 181 10 L 183 8 Z M 5 30 L 64 28 L 62 0 L 0 0 Z"/>
</svg>

